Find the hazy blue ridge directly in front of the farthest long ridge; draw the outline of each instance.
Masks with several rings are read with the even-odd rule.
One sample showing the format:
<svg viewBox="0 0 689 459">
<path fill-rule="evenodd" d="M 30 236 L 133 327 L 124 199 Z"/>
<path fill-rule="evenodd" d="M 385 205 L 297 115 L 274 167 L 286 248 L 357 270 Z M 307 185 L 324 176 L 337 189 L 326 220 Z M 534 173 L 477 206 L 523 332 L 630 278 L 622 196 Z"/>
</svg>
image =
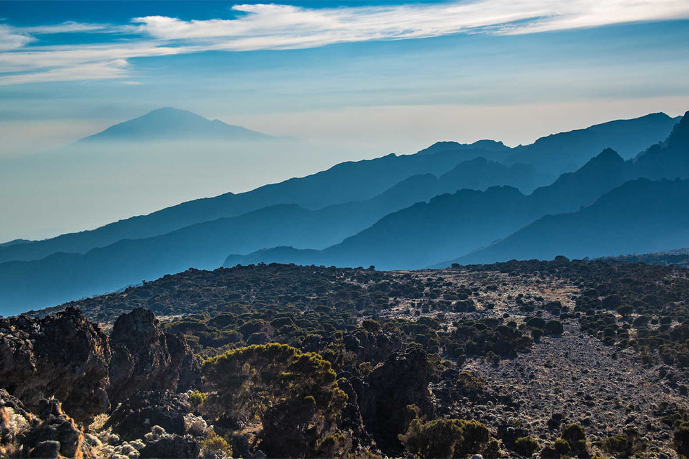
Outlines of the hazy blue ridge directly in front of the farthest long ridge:
<svg viewBox="0 0 689 459">
<path fill-rule="evenodd" d="M 511 178 L 506 171 L 526 171 L 525 180 L 533 178 L 533 168 L 508 168 L 483 158 L 460 163 L 455 169 L 467 169 L 472 183 L 482 189 L 491 180 Z M 123 239 L 83 255 L 58 253 L 34 261 L 8 261 L 0 264 L 0 303 L 13 304 L 18 310 L 46 306 L 190 267 L 217 268 L 227 253 L 248 253 L 266 246 L 325 248 L 368 228 L 384 215 L 429 200 L 441 189 L 462 188 L 464 178 L 455 169 L 440 179 L 432 174 L 413 175 L 369 200 L 317 211 L 278 204 L 165 235 Z M 458 181 L 453 185 L 455 176 Z M 477 181 L 480 177 L 485 178 L 484 183 Z M 520 181 L 518 175 L 514 178 Z"/>
</svg>

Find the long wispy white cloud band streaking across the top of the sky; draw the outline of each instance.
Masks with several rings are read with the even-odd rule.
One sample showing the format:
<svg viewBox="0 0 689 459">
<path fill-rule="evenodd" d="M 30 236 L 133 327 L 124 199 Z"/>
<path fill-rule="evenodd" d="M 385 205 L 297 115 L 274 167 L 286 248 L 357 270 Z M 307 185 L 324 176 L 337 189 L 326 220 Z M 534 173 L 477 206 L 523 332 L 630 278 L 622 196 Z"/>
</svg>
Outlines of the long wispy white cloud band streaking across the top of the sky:
<svg viewBox="0 0 689 459">
<path fill-rule="evenodd" d="M 119 63 L 135 57 L 287 50 L 457 33 L 528 34 L 689 18 L 689 2 L 678 0 L 475 0 L 349 8 L 253 4 L 233 9 L 236 19 L 148 16 L 129 25 L 0 25 L 0 84 L 121 78 L 129 72 Z M 99 45 L 34 43 L 41 34 L 70 32 L 125 32 L 138 38 Z"/>
</svg>

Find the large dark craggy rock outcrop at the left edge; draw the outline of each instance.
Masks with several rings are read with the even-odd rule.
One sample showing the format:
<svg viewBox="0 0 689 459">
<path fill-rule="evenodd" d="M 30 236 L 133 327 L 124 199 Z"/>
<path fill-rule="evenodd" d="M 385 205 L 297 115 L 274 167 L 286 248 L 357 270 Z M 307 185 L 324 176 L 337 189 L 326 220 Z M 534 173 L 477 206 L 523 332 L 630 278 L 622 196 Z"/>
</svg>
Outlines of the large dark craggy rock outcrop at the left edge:
<svg viewBox="0 0 689 459">
<path fill-rule="evenodd" d="M 54 397 L 85 422 L 138 392 L 186 390 L 199 375 L 185 338 L 143 308 L 123 314 L 109 338 L 76 308 L 0 319 L 0 387 L 33 412 Z"/>
</svg>

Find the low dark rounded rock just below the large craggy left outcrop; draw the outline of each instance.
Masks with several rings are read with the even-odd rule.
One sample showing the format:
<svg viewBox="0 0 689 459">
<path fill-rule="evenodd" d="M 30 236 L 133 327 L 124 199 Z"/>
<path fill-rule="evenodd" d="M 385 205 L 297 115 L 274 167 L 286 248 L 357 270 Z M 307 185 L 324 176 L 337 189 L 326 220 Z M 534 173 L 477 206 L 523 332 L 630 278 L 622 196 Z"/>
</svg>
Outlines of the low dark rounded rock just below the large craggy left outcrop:
<svg viewBox="0 0 689 459">
<path fill-rule="evenodd" d="M 143 438 L 159 425 L 169 434 L 185 434 L 184 416 L 192 409 L 185 396 L 171 392 L 140 392 L 121 403 L 105 427 L 125 440 Z"/>
</svg>

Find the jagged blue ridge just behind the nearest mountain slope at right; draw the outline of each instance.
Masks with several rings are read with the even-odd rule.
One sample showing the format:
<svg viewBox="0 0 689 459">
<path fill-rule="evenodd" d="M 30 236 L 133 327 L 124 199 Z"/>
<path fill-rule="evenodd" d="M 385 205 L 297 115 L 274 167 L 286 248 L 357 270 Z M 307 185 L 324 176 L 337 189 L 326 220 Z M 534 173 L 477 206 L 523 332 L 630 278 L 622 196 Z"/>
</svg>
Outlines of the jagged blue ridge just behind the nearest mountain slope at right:
<svg viewBox="0 0 689 459">
<path fill-rule="evenodd" d="M 651 147 L 635 161 L 625 161 L 615 151 L 605 149 L 584 167 L 563 174 L 553 184 L 520 199 L 505 195 L 501 202 L 497 189 L 489 190 L 493 193 L 491 198 L 487 198 L 488 192 L 462 191 L 387 215 L 371 228 L 324 250 L 285 247 L 261 250 L 244 257 L 231 255 L 225 266 L 258 261 L 337 266 L 373 264 L 381 269 L 428 266 L 433 264 L 434 257 L 436 260 L 442 257 L 442 253 L 453 250 L 458 254 L 466 253 L 468 247 L 478 248 L 506 237 L 549 213 L 578 211 L 627 180 L 644 176 L 649 168 L 666 171 L 668 178 L 689 178 L 682 175 L 689 162 L 687 130 L 689 116 L 681 120 L 660 147 Z M 652 154 L 652 158 L 645 158 L 647 154 Z M 674 167 L 664 167 L 666 161 Z"/>
</svg>

